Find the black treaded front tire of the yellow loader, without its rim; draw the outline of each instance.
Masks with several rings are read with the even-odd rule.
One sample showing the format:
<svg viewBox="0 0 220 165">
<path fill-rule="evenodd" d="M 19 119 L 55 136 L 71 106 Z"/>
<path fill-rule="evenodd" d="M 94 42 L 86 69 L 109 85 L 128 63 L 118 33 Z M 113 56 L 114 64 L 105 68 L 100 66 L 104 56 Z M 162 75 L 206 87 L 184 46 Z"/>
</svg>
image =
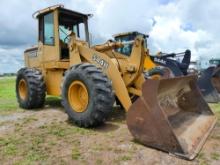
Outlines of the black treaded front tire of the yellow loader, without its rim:
<svg viewBox="0 0 220 165">
<path fill-rule="evenodd" d="M 77 112 L 68 99 L 71 84 L 81 82 L 88 92 L 88 104 L 83 112 Z M 82 63 L 66 71 L 62 87 L 62 105 L 69 118 L 80 127 L 102 124 L 112 111 L 115 101 L 111 81 L 94 65 Z"/>
</svg>

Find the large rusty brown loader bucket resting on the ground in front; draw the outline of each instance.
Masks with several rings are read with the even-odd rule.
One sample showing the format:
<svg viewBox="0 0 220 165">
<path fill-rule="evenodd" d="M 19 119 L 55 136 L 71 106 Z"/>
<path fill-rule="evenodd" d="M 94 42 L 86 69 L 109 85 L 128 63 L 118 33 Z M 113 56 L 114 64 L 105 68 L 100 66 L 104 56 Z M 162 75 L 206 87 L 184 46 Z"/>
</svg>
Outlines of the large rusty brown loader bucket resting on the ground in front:
<svg viewBox="0 0 220 165">
<path fill-rule="evenodd" d="M 126 120 L 136 141 L 189 160 L 195 158 L 216 123 L 196 76 L 146 80 Z"/>
</svg>

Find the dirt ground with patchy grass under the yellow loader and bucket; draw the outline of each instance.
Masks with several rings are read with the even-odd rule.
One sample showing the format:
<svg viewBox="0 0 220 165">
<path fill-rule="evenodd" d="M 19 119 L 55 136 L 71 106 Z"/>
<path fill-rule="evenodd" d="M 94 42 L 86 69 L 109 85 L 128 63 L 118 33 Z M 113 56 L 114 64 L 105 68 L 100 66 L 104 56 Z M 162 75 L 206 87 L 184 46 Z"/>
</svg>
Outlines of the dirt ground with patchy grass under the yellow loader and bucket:
<svg viewBox="0 0 220 165">
<path fill-rule="evenodd" d="M 219 165 L 220 123 L 198 157 L 183 160 L 134 142 L 125 113 L 116 107 L 95 129 L 78 128 L 63 108 L 46 105 L 35 111 L 0 116 L 0 164 Z"/>
</svg>

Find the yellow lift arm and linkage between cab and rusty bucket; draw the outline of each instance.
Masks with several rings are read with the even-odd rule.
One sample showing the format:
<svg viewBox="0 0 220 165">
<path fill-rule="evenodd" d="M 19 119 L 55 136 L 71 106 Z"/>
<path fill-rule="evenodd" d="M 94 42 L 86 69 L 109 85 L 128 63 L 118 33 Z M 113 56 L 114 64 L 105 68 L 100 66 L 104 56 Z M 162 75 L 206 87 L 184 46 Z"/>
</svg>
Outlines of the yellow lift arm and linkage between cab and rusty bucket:
<svg viewBox="0 0 220 165">
<path fill-rule="evenodd" d="M 121 64 L 123 76 L 119 72 L 111 58 L 103 53 L 88 48 L 81 42 L 77 42 L 75 34 L 71 35 L 69 42 L 70 65 L 76 65 L 85 60 L 97 67 L 102 68 L 103 72 L 112 80 L 113 89 L 121 104 L 128 111 L 131 106 L 130 94 L 141 95 L 141 85 L 144 82 L 143 77 L 143 58 L 144 58 L 144 40 L 140 37 L 134 42 L 132 54 L 128 58 L 129 65 Z M 132 86 L 131 86 L 132 84 Z"/>
</svg>

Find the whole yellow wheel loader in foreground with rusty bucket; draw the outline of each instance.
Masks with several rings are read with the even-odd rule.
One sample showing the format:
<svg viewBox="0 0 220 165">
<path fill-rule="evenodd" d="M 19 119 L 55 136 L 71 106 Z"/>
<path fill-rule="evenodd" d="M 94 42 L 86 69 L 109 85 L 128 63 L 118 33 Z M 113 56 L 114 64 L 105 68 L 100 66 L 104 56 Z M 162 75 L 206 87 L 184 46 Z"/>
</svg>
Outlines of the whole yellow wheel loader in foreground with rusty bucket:
<svg viewBox="0 0 220 165">
<path fill-rule="evenodd" d="M 123 46 L 118 42 L 90 47 L 89 16 L 63 6 L 34 14 L 38 45 L 25 50 L 26 67 L 17 73 L 20 107 L 40 108 L 46 94 L 61 96 L 76 125 L 94 127 L 106 120 L 117 98 L 135 139 L 193 159 L 216 122 L 196 77 L 145 80 L 144 38 L 134 40 L 129 57 L 114 51 Z"/>
</svg>

